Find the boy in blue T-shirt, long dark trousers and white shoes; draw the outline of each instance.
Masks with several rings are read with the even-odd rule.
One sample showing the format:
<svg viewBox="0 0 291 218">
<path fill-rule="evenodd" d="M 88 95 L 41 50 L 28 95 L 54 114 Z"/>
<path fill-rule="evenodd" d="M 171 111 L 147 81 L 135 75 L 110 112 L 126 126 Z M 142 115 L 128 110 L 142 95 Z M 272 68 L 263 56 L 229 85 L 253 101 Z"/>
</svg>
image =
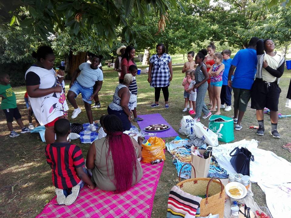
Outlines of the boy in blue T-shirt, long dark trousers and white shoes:
<svg viewBox="0 0 291 218">
<path fill-rule="evenodd" d="M 220 92 L 220 108 L 225 108 L 225 111 L 231 110 L 231 91 L 232 88 L 228 86 L 228 72 L 230 68 L 230 63 L 232 58 L 230 58 L 231 51 L 229 49 L 225 49 L 222 51 L 222 63 L 224 64 L 224 72 L 222 74 L 222 87 Z M 231 77 L 232 80 L 233 76 Z M 226 107 L 224 106 L 226 104 Z"/>
</svg>

